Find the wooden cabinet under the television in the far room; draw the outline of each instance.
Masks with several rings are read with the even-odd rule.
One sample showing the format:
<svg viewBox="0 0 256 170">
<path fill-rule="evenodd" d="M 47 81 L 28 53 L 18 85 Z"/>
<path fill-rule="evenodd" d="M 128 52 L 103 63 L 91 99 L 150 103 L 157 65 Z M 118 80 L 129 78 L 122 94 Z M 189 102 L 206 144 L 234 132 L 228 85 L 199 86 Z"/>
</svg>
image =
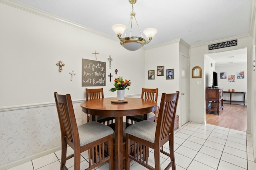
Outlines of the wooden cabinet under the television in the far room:
<svg viewBox="0 0 256 170">
<path fill-rule="evenodd" d="M 209 106 L 209 102 L 216 102 L 216 107 Z M 214 111 L 220 115 L 221 109 L 223 110 L 223 88 L 206 88 L 206 113 Z"/>
</svg>

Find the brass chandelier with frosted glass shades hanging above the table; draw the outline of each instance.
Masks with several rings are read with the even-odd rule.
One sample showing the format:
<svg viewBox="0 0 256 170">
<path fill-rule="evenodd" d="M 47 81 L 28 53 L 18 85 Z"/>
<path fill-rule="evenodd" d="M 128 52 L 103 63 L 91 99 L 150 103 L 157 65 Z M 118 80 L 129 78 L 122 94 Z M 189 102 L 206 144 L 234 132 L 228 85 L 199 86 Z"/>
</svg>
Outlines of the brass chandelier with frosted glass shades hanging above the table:
<svg viewBox="0 0 256 170">
<path fill-rule="evenodd" d="M 157 30 L 154 28 L 147 28 L 143 31 L 143 33 L 146 35 L 146 37 L 148 38 L 148 40 L 145 40 L 142 36 L 142 33 L 140 31 L 140 27 L 138 25 L 138 22 L 135 18 L 135 12 L 133 11 L 133 4 L 136 3 L 137 0 L 129 0 L 130 4 L 132 4 L 132 12 L 130 12 L 130 21 L 128 24 L 128 28 L 130 25 L 130 36 L 126 37 L 126 33 L 128 31 L 128 28 L 126 29 L 126 26 L 123 24 L 116 24 L 112 26 L 113 31 L 116 33 L 117 37 L 120 40 L 120 44 L 127 50 L 130 51 L 136 51 L 138 49 L 140 49 L 140 47 L 142 47 L 143 45 L 148 44 L 152 38 L 154 37 L 154 35 L 156 34 Z M 141 37 L 136 37 L 136 36 L 132 36 L 132 21 L 133 18 L 136 21 L 136 24 L 138 26 L 138 29 L 140 31 Z M 122 37 L 122 34 L 124 33 L 124 31 L 126 30 L 124 37 Z"/>
</svg>

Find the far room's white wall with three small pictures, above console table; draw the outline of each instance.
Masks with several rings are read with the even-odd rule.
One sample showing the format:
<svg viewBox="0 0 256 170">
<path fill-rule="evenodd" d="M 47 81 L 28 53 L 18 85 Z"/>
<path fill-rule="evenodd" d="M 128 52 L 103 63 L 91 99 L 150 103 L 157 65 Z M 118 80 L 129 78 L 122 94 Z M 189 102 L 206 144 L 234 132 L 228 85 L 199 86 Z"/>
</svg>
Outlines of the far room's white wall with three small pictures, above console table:
<svg viewBox="0 0 256 170">
<path fill-rule="evenodd" d="M 219 65 L 215 66 L 215 70 L 218 73 L 218 87 L 223 88 L 223 91 L 232 91 L 235 92 L 246 92 L 245 97 L 245 104 L 247 104 L 247 64 L 232 64 L 232 65 Z M 244 71 L 244 78 L 237 78 L 237 72 Z M 226 72 L 227 78 L 220 79 L 220 73 Z M 235 75 L 234 82 L 228 82 L 228 76 Z M 230 100 L 230 95 L 228 93 L 224 93 L 224 100 Z M 232 100 L 243 101 L 244 95 L 243 94 L 232 94 Z M 230 103 L 230 102 L 227 102 Z M 232 104 L 242 104 L 241 102 L 232 102 Z"/>
</svg>

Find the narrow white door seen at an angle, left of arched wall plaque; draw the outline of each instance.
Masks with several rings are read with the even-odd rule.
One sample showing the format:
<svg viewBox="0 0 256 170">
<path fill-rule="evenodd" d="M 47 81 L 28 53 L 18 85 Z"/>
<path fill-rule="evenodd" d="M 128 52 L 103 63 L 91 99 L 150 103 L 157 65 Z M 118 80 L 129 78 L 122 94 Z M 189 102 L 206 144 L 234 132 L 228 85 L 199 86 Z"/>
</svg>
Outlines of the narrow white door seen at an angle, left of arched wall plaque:
<svg viewBox="0 0 256 170">
<path fill-rule="evenodd" d="M 189 60 L 188 57 L 181 54 L 181 116 L 180 123 L 184 125 L 190 121 L 190 104 L 189 104 Z"/>
</svg>

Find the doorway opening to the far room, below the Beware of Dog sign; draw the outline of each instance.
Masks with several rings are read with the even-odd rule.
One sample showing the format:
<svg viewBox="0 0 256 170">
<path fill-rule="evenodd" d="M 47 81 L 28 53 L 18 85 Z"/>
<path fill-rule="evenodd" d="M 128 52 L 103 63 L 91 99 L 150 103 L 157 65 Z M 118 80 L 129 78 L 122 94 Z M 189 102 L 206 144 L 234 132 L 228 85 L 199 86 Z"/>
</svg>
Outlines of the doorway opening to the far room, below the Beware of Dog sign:
<svg viewBox="0 0 256 170">
<path fill-rule="evenodd" d="M 212 85 L 212 72 L 218 73 L 218 87 L 223 88 L 224 109 L 220 115 L 209 111 L 206 113 L 206 123 L 240 131 L 247 130 L 247 48 L 205 55 L 205 85 Z M 241 73 L 242 72 L 242 73 Z M 240 74 L 244 74 L 241 76 Z M 222 75 L 222 77 L 221 77 Z M 233 81 L 228 78 L 234 77 Z M 229 90 L 246 92 L 243 102 L 230 104 Z M 233 94 L 232 101 L 243 101 L 243 95 Z M 225 101 L 226 100 L 226 101 Z M 207 106 L 206 106 L 207 107 Z"/>
</svg>

